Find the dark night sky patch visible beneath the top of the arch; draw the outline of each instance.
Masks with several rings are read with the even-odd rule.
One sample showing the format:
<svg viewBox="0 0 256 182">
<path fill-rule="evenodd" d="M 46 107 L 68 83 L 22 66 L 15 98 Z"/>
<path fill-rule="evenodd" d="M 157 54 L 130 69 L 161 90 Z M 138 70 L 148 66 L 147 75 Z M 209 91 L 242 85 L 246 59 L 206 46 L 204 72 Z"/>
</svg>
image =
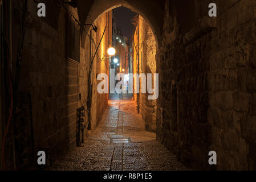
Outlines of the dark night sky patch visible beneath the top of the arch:
<svg viewBox="0 0 256 182">
<path fill-rule="evenodd" d="M 121 29 L 124 36 L 128 39 L 131 38 L 133 34 L 133 24 L 131 19 L 136 15 L 136 13 L 126 7 L 117 7 L 114 10 L 116 15 L 116 26 Z"/>
</svg>

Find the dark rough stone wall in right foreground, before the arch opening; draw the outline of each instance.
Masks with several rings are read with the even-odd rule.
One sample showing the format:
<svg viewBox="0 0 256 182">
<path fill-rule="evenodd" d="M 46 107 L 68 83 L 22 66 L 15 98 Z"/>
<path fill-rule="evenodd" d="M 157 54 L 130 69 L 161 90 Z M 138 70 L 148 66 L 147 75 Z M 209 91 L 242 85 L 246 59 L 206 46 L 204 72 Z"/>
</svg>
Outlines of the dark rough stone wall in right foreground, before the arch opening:
<svg viewBox="0 0 256 182">
<path fill-rule="evenodd" d="M 207 3 L 196 1 L 197 19 L 208 15 Z M 217 169 L 255 169 L 255 1 L 215 3 L 217 28 L 190 43 L 182 40 L 179 24 L 186 22 L 176 12 L 172 32 L 165 21 L 157 52 L 163 109 L 162 115 L 157 110 L 157 138 L 194 168 L 210 169 L 214 150 Z"/>
</svg>

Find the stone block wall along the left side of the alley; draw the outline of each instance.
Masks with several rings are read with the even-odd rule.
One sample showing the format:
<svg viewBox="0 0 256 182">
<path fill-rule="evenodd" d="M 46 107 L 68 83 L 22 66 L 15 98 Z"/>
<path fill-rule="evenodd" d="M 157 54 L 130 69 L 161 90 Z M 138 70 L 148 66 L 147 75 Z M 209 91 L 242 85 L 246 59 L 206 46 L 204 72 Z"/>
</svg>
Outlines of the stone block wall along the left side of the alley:
<svg viewBox="0 0 256 182">
<path fill-rule="evenodd" d="M 51 5 L 51 2 L 47 5 Z M 19 26 L 22 17 L 18 15 L 18 12 L 22 6 L 19 3 L 13 6 L 13 60 L 16 61 L 17 52 L 15 51 L 17 51 L 18 40 L 21 36 L 17 32 L 20 32 Z M 66 7 L 72 16 L 79 19 L 77 9 L 71 6 Z M 25 116 L 15 115 L 15 121 L 23 121 L 23 117 L 26 119 L 25 121 L 30 121 L 28 119 L 32 117 L 32 131 L 25 132 L 24 129 L 24 132 L 22 130 L 17 131 L 18 133 L 14 132 L 14 137 L 17 138 L 18 142 L 14 152 L 19 159 L 16 162 L 11 162 L 12 159 L 8 159 L 7 164 L 10 164 L 8 166 L 10 168 L 14 166 L 11 163 L 16 163 L 17 168 L 25 167 L 25 160 L 31 160 L 33 157 L 35 159 L 39 150 L 49 148 L 53 162 L 76 146 L 76 110 L 81 106 L 86 107 L 90 56 L 94 55 L 96 51 L 106 22 L 108 25 L 107 30 L 98 50 L 100 57 L 106 57 L 109 45 L 104 43 L 109 42 L 108 39 L 111 40 L 112 38 L 109 38 L 112 35 L 112 18 L 108 16 L 111 13 L 105 13 L 105 16 L 103 15 L 97 19 L 96 25 L 99 27 L 97 33 L 92 31 L 92 38 L 95 44 L 92 44 L 91 53 L 90 39 L 87 36 L 84 48 L 80 45 L 80 62 L 67 59 L 67 12 L 63 7 L 54 9 L 54 7 L 47 6 L 47 12 L 58 11 L 56 11 L 55 16 L 47 16 L 47 14 L 46 18 L 43 19 L 37 16 L 37 10 L 37 3 L 32 0 L 28 1 L 26 34 L 18 90 L 19 95 L 25 94 L 26 96 L 28 92 L 31 93 L 32 113 L 26 115 L 25 110 L 18 108 L 22 109 L 21 113 Z M 52 26 L 52 23 L 49 22 L 54 17 L 58 20 L 58 25 L 54 24 Z M 14 73 L 17 71 L 15 61 L 12 64 Z M 94 86 L 96 86 L 96 75 L 99 73 L 108 74 L 108 60 L 101 62 L 99 58 L 96 58 L 94 63 L 93 70 L 95 72 L 92 74 L 92 78 L 94 78 Z M 103 63 L 105 67 L 102 67 Z M 96 126 L 96 123 L 100 122 L 101 115 L 107 104 L 108 94 L 97 96 L 97 92 L 95 92 L 93 97 L 96 100 L 101 100 L 101 102 L 95 102 L 96 109 L 92 108 L 91 110 L 93 115 L 97 115 L 97 118 L 92 118 L 91 120 L 94 123 L 93 125 Z M 102 104 L 103 102 L 106 104 Z M 25 104 L 27 105 L 25 101 L 19 100 L 19 106 Z M 19 127 L 23 129 L 27 126 L 25 126 L 24 122 L 19 122 Z M 26 136 L 24 136 L 25 133 Z M 33 137 L 31 137 L 32 135 Z M 30 146 L 24 144 L 24 137 L 34 140 L 29 140 Z M 13 146 L 7 146 L 6 151 L 9 151 L 10 147 Z M 10 148 L 10 150 L 12 149 Z M 27 151 L 31 150 L 33 151 L 32 155 L 26 158 Z M 36 166 L 36 160 L 31 163 Z"/>
</svg>

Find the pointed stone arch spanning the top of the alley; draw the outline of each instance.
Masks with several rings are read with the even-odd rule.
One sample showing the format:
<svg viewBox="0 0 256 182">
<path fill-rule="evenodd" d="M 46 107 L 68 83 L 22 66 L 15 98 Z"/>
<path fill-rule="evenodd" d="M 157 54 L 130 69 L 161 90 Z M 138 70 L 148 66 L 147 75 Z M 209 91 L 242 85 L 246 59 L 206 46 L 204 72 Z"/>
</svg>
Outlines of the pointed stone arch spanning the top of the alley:
<svg viewBox="0 0 256 182">
<path fill-rule="evenodd" d="M 164 13 L 161 9 L 164 7 L 164 2 L 157 2 L 154 0 L 137 1 L 137 0 L 95 0 L 83 1 L 78 0 L 78 14 L 79 20 L 82 23 L 90 24 L 95 22 L 99 16 L 107 11 L 115 9 L 116 7 L 124 6 L 132 11 L 143 16 L 151 26 L 156 38 L 156 47 L 159 49 L 162 36 L 162 22 Z M 88 17 L 90 15 L 90 17 Z M 92 19 L 92 20 L 91 20 Z M 91 27 L 87 26 L 88 32 Z M 86 32 L 82 30 L 82 46 L 86 41 Z"/>
</svg>

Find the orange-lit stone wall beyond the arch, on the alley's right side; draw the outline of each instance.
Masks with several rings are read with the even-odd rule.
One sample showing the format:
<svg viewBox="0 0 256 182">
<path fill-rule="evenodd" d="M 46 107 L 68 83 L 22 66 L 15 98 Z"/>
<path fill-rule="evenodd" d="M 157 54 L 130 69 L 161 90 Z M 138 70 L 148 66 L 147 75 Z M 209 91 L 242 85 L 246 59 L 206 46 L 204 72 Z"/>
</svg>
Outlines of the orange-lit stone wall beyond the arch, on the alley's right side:
<svg viewBox="0 0 256 182">
<path fill-rule="evenodd" d="M 139 34 L 139 46 L 138 46 Z M 137 59 L 139 57 L 139 73 L 152 73 L 152 87 L 154 86 L 153 79 L 156 73 L 156 39 L 153 31 L 147 21 L 139 15 L 136 33 L 133 35 L 133 73 L 138 73 Z M 139 48 L 138 48 L 139 47 Z M 138 56 L 139 52 L 139 56 Z M 139 111 L 145 121 L 145 128 L 148 131 L 156 131 L 156 100 L 148 100 L 148 92 L 141 92 L 140 78 L 140 94 L 139 94 Z M 137 101 L 137 94 L 135 94 Z"/>
</svg>

